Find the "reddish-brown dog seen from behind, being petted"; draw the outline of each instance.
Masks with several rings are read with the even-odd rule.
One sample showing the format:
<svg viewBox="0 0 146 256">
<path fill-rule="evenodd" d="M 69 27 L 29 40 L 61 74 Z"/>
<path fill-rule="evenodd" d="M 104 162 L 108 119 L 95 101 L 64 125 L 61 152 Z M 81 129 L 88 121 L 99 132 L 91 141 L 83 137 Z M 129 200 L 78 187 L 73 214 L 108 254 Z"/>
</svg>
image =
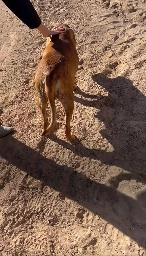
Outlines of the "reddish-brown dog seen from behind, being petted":
<svg viewBox="0 0 146 256">
<path fill-rule="evenodd" d="M 35 87 L 38 95 L 38 106 L 43 117 L 42 135 L 47 135 L 56 123 L 55 99 L 63 105 L 66 112 L 65 134 L 68 141 L 75 136 L 70 133 L 70 120 L 74 110 L 73 89 L 78 70 L 79 57 L 76 50 L 74 32 L 63 24 L 65 33 L 53 35 L 47 39 L 47 44 L 35 77 Z M 51 123 L 48 126 L 46 107 L 49 100 L 51 107 Z"/>
</svg>

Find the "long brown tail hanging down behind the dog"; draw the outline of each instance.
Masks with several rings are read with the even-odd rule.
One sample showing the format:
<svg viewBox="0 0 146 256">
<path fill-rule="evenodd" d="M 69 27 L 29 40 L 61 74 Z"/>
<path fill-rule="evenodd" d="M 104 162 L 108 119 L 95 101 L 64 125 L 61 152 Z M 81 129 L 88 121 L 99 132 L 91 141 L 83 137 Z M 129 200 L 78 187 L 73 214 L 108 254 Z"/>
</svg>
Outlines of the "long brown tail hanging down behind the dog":
<svg viewBox="0 0 146 256">
<path fill-rule="evenodd" d="M 47 74 L 45 77 L 45 93 L 50 103 L 51 108 L 51 123 L 47 129 L 43 132 L 42 135 L 47 135 L 54 128 L 56 123 L 56 106 L 54 98 L 54 89 L 55 89 L 56 80 L 51 79 L 50 74 Z"/>
</svg>

